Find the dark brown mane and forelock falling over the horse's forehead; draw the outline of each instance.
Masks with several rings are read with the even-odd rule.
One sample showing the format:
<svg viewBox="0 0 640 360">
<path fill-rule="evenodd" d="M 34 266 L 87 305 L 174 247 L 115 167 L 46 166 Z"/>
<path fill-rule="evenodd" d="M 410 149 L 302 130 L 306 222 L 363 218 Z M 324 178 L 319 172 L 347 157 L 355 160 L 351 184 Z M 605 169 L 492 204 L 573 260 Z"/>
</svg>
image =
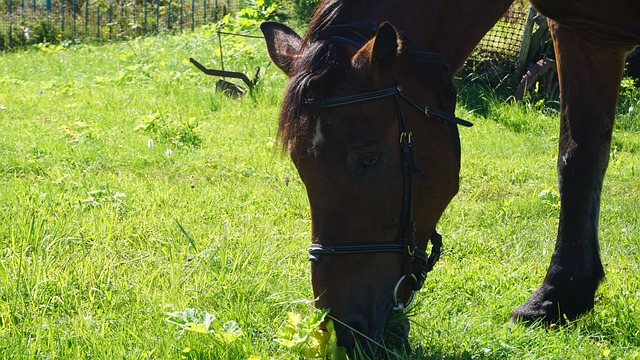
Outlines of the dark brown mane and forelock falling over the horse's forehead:
<svg viewBox="0 0 640 360">
<path fill-rule="evenodd" d="M 347 23 L 359 4 L 361 0 L 326 0 L 314 12 L 280 110 L 277 136 L 283 152 L 292 146 L 310 143 L 317 117 L 306 111 L 305 100 L 326 97 L 327 86 L 335 84 L 337 74 L 346 67 L 338 61 L 346 56 L 342 46 L 313 41 L 315 33 L 334 24 Z"/>
</svg>

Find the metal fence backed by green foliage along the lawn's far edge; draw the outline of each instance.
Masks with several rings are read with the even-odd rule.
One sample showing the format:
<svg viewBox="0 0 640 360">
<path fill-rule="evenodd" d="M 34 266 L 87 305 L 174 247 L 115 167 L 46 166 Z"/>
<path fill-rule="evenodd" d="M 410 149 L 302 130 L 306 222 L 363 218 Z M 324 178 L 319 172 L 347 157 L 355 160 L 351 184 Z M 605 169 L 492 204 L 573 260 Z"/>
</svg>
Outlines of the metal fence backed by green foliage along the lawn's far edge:
<svg viewBox="0 0 640 360">
<path fill-rule="evenodd" d="M 239 7 L 239 0 L 0 0 L 0 50 L 193 30 Z"/>
</svg>

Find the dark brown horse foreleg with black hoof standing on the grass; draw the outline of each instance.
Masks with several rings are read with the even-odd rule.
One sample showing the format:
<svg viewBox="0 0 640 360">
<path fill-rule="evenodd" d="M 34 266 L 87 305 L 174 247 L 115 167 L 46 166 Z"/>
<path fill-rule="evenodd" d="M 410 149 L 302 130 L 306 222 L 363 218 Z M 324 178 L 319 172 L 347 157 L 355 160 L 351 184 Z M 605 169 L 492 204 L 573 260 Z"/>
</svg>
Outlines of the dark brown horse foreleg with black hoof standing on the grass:
<svg viewBox="0 0 640 360">
<path fill-rule="evenodd" d="M 598 245 L 600 193 L 609 162 L 624 52 L 593 34 L 549 22 L 560 79 L 558 153 L 560 222 L 542 285 L 511 313 L 512 320 L 557 322 L 594 306 L 604 278 Z"/>
</svg>

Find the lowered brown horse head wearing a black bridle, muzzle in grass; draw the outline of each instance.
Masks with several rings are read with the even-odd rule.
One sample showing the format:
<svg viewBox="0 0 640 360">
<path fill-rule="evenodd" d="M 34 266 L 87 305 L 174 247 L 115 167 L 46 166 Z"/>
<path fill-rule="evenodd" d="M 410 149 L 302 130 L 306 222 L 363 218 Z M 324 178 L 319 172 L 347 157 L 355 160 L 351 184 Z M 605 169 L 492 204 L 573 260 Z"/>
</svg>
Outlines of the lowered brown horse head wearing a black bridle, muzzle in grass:
<svg viewBox="0 0 640 360">
<path fill-rule="evenodd" d="M 453 116 L 447 64 L 390 23 L 306 39 L 262 30 L 290 78 L 279 136 L 311 207 L 315 305 L 330 309 L 341 345 L 380 340 L 437 260 L 427 245 L 458 191 L 456 126 L 468 124 Z"/>
</svg>

